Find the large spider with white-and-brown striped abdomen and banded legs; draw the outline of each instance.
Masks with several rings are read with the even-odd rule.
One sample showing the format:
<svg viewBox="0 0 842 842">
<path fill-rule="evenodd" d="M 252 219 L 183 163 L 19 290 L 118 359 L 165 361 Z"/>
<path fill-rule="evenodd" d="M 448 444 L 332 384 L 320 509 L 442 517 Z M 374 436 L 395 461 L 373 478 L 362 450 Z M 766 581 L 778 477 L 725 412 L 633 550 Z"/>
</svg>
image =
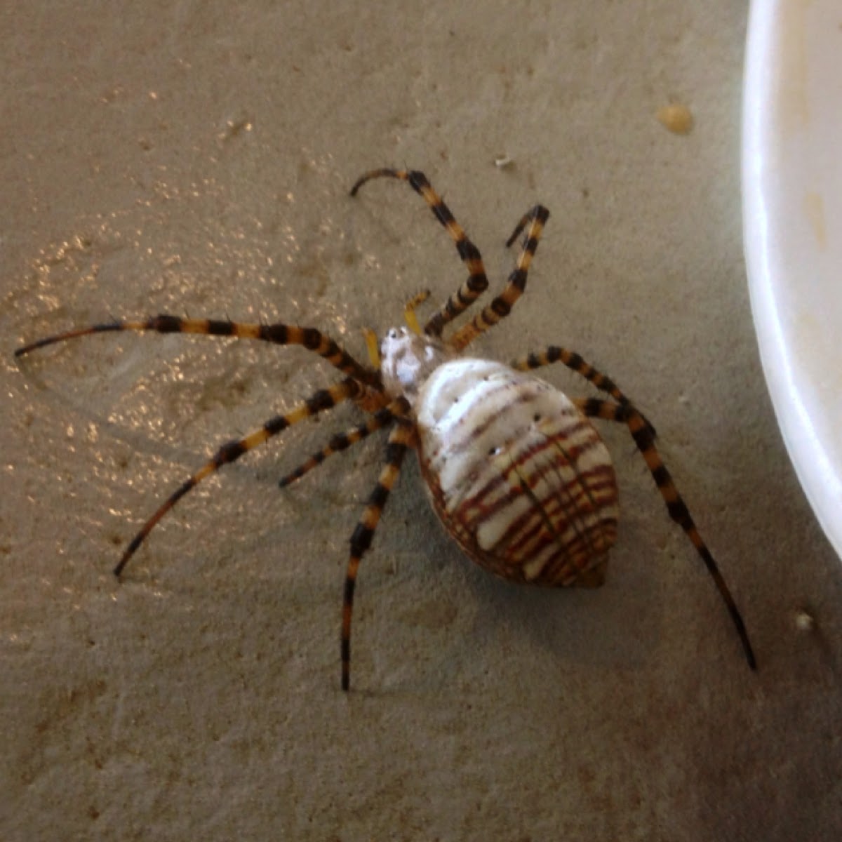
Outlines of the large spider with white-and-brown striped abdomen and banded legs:
<svg viewBox="0 0 842 842">
<path fill-rule="evenodd" d="M 152 514 L 125 548 L 116 576 L 164 514 L 192 488 L 244 453 L 317 413 L 344 401 L 367 417 L 354 429 L 334 435 L 326 445 L 280 480 L 295 482 L 334 453 L 381 429 L 388 429 L 384 465 L 350 539 L 344 580 L 341 631 L 341 684 L 349 690 L 351 616 L 360 562 L 371 545 L 389 493 L 410 449 L 417 450 L 422 476 L 435 512 L 466 555 L 510 581 L 544 586 L 597 587 L 605 578 L 608 551 L 616 540 L 617 487 L 610 455 L 590 418 L 625 424 L 674 520 L 704 562 L 756 669 L 749 635 L 684 499 L 655 447 L 647 418 L 614 381 L 572 350 L 552 345 L 512 365 L 480 360 L 463 352 L 481 333 L 509 315 L 523 294 L 532 258 L 549 211 L 535 205 L 521 217 L 506 241 L 523 234 L 520 255 L 504 290 L 445 337 L 445 328 L 488 288 L 477 247 L 424 173 L 382 168 L 357 180 L 350 195 L 372 179 L 406 182 L 432 210 L 456 246 L 467 279 L 421 328 L 415 308 L 429 295 L 409 301 L 406 327 L 391 328 L 378 343 L 365 332 L 370 365 L 363 365 L 316 328 L 287 324 L 245 324 L 170 315 L 140 321 L 120 320 L 77 328 L 26 344 L 30 351 L 66 339 L 112 331 L 198 333 L 302 345 L 328 361 L 344 377 L 314 392 L 289 412 L 269 418 L 239 439 L 227 441 L 210 461 L 188 477 Z M 560 362 L 605 396 L 570 399 L 530 372 Z"/>
</svg>

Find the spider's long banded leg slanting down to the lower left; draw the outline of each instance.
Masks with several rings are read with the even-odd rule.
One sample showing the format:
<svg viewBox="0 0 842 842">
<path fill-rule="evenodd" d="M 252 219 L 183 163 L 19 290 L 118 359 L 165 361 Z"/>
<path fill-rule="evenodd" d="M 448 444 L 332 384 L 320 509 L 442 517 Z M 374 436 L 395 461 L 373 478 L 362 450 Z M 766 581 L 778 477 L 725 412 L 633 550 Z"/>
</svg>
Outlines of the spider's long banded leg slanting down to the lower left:
<svg viewBox="0 0 842 842">
<path fill-rule="evenodd" d="M 328 389 L 320 389 L 318 392 L 314 392 L 306 401 L 299 403 L 296 407 L 290 409 L 288 413 L 269 418 L 262 427 L 243 436 L 242 439 L 227 441 L 216 451 L 210 461 L 205 462 L 204 466 L 200 467 L 195 474 L 185 480 L 164 501 L 155 514 L 142 526 L 137 535 L 131 539 L 129 546 L 125 548 L 125 552 L 114 568 L 115 576 L 120 576 L 129 559 L 135 554 L 137 548 L 141 546 L 143 541 L 146 540 L 147 535 L 149 535 L 157 522 L 184 497 L 184 494 L 195 488 L 203 479 L 210 477 L 212 473 L 216 473 L 221 466 L 237 461 L 244 453 L 248 453 L 249 450 L 262 445 L 264 441 L 271 439 L 272 436 L 279 434 L 292 424 L 297 424 L 299 421 L 303 421 L 311 415 L 333 408 L 338 403 L 349 398 L 357 397 L 360 391 L 360 386 L 356 381 L 349 378 L 341 383 L 337 383 L 335 386 L 330 386 Z"/>
</svg>

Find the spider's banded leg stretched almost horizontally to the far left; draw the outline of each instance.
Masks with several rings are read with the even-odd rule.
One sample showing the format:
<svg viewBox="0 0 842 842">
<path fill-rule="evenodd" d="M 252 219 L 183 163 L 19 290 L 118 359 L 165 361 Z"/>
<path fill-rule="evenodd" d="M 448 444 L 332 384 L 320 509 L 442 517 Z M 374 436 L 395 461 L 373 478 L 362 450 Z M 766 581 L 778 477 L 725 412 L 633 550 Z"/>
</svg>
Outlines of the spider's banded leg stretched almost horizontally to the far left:
<svg viewBox="0 0 842 842">
<path fill-rule="evenodd" d="M 64 342 L 67 339 L 74 339 L 80 336 L 88 336 L 91 333 L 108 333 L 113 331 L 154 331 L 156 333 L 197 333 L 207 336 L 229 336 L 240 339 L 259 339 L 262 342 L 270 342 L 276 345 L 303 345 L 307 350 L 318 354 L 327 360 L 331 365 L 344 374 L 351 376 L 354 380 L 365 383 L 368 386 L 380 388 L 380 378 L 376 371 L 360 365 L 350 354 L 347 354 L 336 344 L 333 339 L 325 336 L 316 328 L 298 328 L 295 325 L 287 324 L 245 324 L 242 322 L 229 322 L 220 319 L 189 319 L 178 316 L 162 314 L 153 316 L 141 321 L 104 322 L 93 324 L 87 328 L 76 328 L 66 333 L 56 333 L 38 339 L 35 342 L 22 345 L 16 349 L 16 357 L 29 354 L 46 345 L 56 342 Z"/>
</svg>

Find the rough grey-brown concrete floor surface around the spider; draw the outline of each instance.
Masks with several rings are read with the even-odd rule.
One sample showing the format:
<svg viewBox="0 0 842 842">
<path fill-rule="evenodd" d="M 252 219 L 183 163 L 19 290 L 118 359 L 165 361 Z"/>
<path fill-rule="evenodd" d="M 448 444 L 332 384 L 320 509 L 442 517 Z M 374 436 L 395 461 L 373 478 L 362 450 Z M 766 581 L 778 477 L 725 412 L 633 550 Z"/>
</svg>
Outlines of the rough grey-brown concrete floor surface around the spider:
<svg viewBox="0 0 842 842">
<path fill-rule="evenodd" d="M 754 343 L 744 4 L 410 5 L 3 10 L 0 838 L 839 839 L 842 570 Z M 689 135 L 656 120 L 670 103 Z M 566 344 L 639 402 L 757 674 L 621 429 L 624 520 L 594 591 L 472 566 L 412 460 L 360 575 L 349 695 L 347 541 L 382 443 L 276 480 L 350 408 L 197 488 L 115 582 L 221 441 L 336 378 L 213 338 L 13 348 L 174 312 L 312 324 L 365 356 L 361 327 L 465 276 L 405 185 L 346 195 L 403 164 L 493 283 L 514 222 L 550 207 L 527 295 L 477 353 Z"/>
</svg>

